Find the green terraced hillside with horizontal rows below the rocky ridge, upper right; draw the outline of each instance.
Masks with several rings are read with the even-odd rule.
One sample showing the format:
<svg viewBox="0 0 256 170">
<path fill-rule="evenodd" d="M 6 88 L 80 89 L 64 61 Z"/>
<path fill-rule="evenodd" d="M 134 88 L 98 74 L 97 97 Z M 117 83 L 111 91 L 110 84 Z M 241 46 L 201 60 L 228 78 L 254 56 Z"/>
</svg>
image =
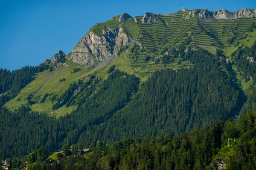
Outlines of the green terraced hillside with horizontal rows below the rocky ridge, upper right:
<svg viewBox="0 0 256 170">
<path fill-rule="evenodd" d="M 203 12 L 204 10 L 198 10 Z M 191 12 L 179 11 L 175 14 L 150 14 L 157 18 L 157 23 L 141 23 L 143 17 L 135 17 L 142 29 L 142 44 L 159 54 L 163 48 L 173 48 L 180 45 L 187 37 L 192 38 L 191 45 L 202 47 L 212 54 L 216 48 L 229 54 L 228 50 L 249 37 L 247 32 L 256 22 L 256 18 L 238 18 L 236 20 L 219 20 L 214 18 L 193 17 L 186 19 Z M 236 45 L 237 46 L 237 45 Z"/>
</svg>

